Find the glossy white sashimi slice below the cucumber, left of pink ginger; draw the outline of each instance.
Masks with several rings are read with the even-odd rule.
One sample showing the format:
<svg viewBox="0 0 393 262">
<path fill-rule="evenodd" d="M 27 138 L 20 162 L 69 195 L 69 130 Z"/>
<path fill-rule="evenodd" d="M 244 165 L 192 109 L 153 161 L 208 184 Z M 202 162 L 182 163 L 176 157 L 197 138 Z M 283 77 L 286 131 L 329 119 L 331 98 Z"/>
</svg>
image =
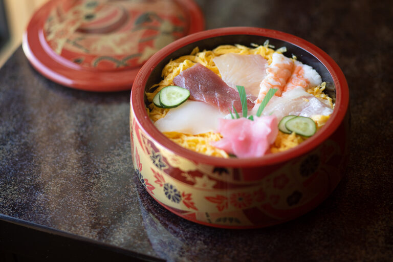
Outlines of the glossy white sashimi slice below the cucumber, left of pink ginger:
<svg viewBox="0 0 393 262">
<path fill-rule="evenodd" d="M 214 132 L 220 118 L 225 114 L 216 107 L 199 101 L 186 101 L 178 107 L 171 108 L 165 117 L 154 125 L 161 132 L 179 132 L 186 134 L 202 134 Z"/>
</svg>

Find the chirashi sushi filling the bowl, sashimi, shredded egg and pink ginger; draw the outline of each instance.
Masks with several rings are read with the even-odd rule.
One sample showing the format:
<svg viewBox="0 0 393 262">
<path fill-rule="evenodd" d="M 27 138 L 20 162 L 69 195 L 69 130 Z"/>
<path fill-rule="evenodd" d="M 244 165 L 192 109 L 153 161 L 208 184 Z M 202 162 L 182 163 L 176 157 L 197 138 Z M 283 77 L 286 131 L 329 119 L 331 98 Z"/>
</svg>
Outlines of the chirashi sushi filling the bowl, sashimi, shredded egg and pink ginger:
<svg viewBox="0 0 393 262">
<path fill-rule="evenodd" d="M 293 148 L 328 121 L 334 103 L 309 65 L 264 45 L 195 48 L 171 60 L 146 92 L 147 113 L 173 142 L 214 157 Z"/>
</svg>

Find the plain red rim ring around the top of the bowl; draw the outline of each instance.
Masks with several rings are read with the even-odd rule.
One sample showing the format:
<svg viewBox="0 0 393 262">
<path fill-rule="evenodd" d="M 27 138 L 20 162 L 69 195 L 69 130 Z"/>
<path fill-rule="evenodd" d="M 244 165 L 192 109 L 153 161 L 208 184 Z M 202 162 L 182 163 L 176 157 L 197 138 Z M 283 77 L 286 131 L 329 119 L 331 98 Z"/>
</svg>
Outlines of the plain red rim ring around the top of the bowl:
<svg viewBox="0 0 393 262">
<path fill-rule="evenodd" d="M 178 49 L 199 40 L 225 35 L 256 35 L 286 41 L 309 52 L 324 65 L 324 67 L 331 74 L 336 88 L 336 104 L 334 112 L 328 120 L 328 123 L 326 123 L 326 125 L 318 131 L 317 135 L 305 140 L 295 148 L 283 152 L 268 154 L 264 157 L 248 159 L 225 159 L 202 155 L 183 148 L 180 145 L 170 141 L 155 127 L 147 115 L 144 102 L 145 85 L 151 72 L 163 59 Z M 349 90 L 345 76 L 338 67 L 337 63 L 328 54 L 312 43 L 297 36 L 276 30 L 253 27 L 228 27 L 212 29 L 194 33 L 170 43 L 170 45 L 166 46 L 150 57 L 143 65 L 134 81 L 130 97 L 130 105 L 135 115 L 135 120 L 138 122 L 144 133 L 149 136 L 150 140 L 155 141 L 167 150 L 172 151 L 174 154 L 194 162 L 225 167 L 253 167 L 272 165 L 283 163 L 290 159 L 294 159 L 298 156 L 306 154 L 320 145 L 323 141 L 328 139 L 335 132 L 344 119 L 344 116 L 348 110 L 348 103 Z"/>
</svg>

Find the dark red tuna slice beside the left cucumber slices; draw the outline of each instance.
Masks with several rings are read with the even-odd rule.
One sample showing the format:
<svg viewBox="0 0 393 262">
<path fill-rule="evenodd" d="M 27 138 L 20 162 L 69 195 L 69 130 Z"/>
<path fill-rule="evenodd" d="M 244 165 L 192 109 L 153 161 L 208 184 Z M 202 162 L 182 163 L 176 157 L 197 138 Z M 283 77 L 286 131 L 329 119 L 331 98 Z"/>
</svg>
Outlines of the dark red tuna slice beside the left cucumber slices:
<svg viewBox="0 0 393 262">
<path fill-rule="evenodd" d="M 242 111 L 239 93 L 200 63 L 182 71 L 173 78 L 173 83 L 188 89 L 191 100 L 208 103 L 219 108 L 221 112 L 228 113 L 228 108 L 232 108 L 232 105 L 237 112 Z M 247 108 L 250 109 L 253 106 L 254 103 L 247 100 Z"/>
</svg>

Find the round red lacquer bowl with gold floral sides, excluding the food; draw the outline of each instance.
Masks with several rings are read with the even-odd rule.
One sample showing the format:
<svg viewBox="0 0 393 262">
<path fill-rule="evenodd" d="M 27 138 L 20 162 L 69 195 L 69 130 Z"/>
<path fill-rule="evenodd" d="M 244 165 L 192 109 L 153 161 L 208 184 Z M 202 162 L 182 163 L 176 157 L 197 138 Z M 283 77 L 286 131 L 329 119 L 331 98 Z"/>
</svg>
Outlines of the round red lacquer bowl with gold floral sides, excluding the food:
<svg viewBox="0 0 393 262">
<path fill-rule="evenodd" d="M 269 39 L 286 55 L 311 65 L 335 87 L 336 104 L 317 134 L 290 150 L 261 158 L 221 159 L 187 150 L 167 139 L 145 109 L 145 91 L 161 80 L 170 60 L 195 47 L 211 50 Z M 136 173 L 149 194 L 187 220 L 222 228 L 257 228 L 283 223 L 320 204 L 341 180 L 347 159 L 349 113 L 345 77 L 322 50 L 275 30 L 234 27 L 195 33 L 166 46 L 138 73 L 130 99 L 130 136 Z"/>
</svg>

